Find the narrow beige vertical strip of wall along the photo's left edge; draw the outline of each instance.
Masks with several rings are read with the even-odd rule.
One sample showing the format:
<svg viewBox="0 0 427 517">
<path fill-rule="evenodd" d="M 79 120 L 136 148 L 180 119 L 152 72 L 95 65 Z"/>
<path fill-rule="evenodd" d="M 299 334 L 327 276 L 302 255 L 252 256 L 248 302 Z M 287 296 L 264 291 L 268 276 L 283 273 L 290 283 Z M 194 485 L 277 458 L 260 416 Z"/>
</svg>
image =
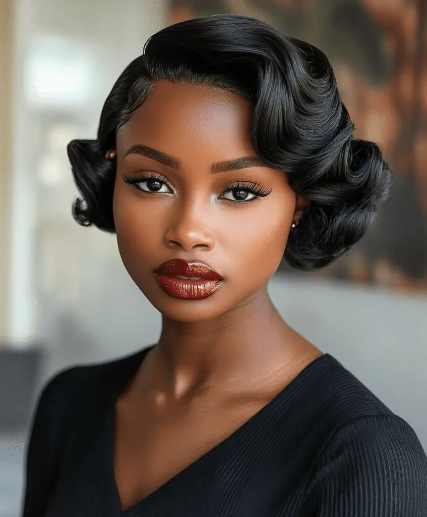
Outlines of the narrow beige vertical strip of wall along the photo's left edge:
<svg viewBox="0 0 427 517">
<path fill-rule="evenodd" d="M 11 163 L 12 0 L 0 4 L 0 340 L 7 334 Z"/>
</svg>

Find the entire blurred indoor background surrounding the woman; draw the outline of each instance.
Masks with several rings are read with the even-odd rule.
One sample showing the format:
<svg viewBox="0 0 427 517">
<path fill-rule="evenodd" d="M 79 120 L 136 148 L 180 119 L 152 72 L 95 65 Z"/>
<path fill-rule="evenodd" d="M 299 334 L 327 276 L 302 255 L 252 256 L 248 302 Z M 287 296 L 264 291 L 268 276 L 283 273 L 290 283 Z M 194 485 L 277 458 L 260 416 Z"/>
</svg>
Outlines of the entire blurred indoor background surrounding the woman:
<svg viewBox="0 0 427 517">
<path fill-rule="evenodd" d="M 248 14 L 322 49 L 356 136 L 381 143 L 396 173 L 352 253 L 318 273 L 283 263 L 269 291 L 427 450 L 427 0 L 2 0 L 0 517 L 21 509 L 43 385 L 160 332 L 115 236 L 73 221 L 66 145 L 95 138 L 109 90 L 151 34 L 214 13 Z"/>
</svg>

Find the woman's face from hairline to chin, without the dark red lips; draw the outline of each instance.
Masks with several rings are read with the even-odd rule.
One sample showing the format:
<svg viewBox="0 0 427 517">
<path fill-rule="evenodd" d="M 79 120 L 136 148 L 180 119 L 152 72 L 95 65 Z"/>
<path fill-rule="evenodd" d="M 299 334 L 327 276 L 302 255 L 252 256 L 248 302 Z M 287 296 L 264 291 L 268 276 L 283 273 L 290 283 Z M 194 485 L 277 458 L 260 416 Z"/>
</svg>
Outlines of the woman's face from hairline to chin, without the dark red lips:
<svg viewBox="0 0 427 517">
<path fill-rule="evenodd" d="M 250 125 L 250 104 L 233 93 L 159 81 L 117 134 L 120 255 L 152 305 L 173 320 L 208 320 L 263 295 L 301 212 L 286 174 L 256 162 Z M 133 146 L 155 151 L 128 153 Z M 247 157 L 255 160 L 238 170 L 215 165 Z M 254 187 L 267 195 L 248 192 Z M 154 271 L 176 258 L 206 264 L 223 280 L 204 299 L 171 296 Z"/>
</svg>

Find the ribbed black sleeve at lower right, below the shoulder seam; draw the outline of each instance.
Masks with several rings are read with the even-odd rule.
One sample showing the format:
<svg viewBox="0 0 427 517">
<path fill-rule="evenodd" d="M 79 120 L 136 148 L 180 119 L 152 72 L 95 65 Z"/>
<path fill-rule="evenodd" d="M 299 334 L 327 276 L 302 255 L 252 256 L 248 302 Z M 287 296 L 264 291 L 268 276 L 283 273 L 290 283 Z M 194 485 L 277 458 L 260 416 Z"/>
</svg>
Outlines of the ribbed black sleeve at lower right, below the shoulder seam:
<svg viewBox="0 0 427 517">
<path fill-rule="evenodd" d="M 356 418 L 331 437 L 306 495 L 313 517 L 427 517 L 427 457 L 403 419 Z"/>
</svg>

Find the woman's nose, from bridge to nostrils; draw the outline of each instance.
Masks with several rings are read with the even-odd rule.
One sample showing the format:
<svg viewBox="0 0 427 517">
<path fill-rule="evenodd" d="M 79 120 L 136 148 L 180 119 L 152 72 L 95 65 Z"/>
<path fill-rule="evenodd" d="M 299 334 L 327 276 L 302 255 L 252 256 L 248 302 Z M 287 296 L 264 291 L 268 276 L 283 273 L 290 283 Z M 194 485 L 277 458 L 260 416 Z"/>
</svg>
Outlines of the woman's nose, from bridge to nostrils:
<svg viewBox="0 0 427 517">
<path fill-rule="evenodd" d="M 209 228 L 207 214 L 196 203 L 184 202 L 173 211 L 165 233 L 165 244 L 169 248 L 181 247 L 191 251 L 195 247 L 211 250 L 215 239 Z"/>
</svg>

